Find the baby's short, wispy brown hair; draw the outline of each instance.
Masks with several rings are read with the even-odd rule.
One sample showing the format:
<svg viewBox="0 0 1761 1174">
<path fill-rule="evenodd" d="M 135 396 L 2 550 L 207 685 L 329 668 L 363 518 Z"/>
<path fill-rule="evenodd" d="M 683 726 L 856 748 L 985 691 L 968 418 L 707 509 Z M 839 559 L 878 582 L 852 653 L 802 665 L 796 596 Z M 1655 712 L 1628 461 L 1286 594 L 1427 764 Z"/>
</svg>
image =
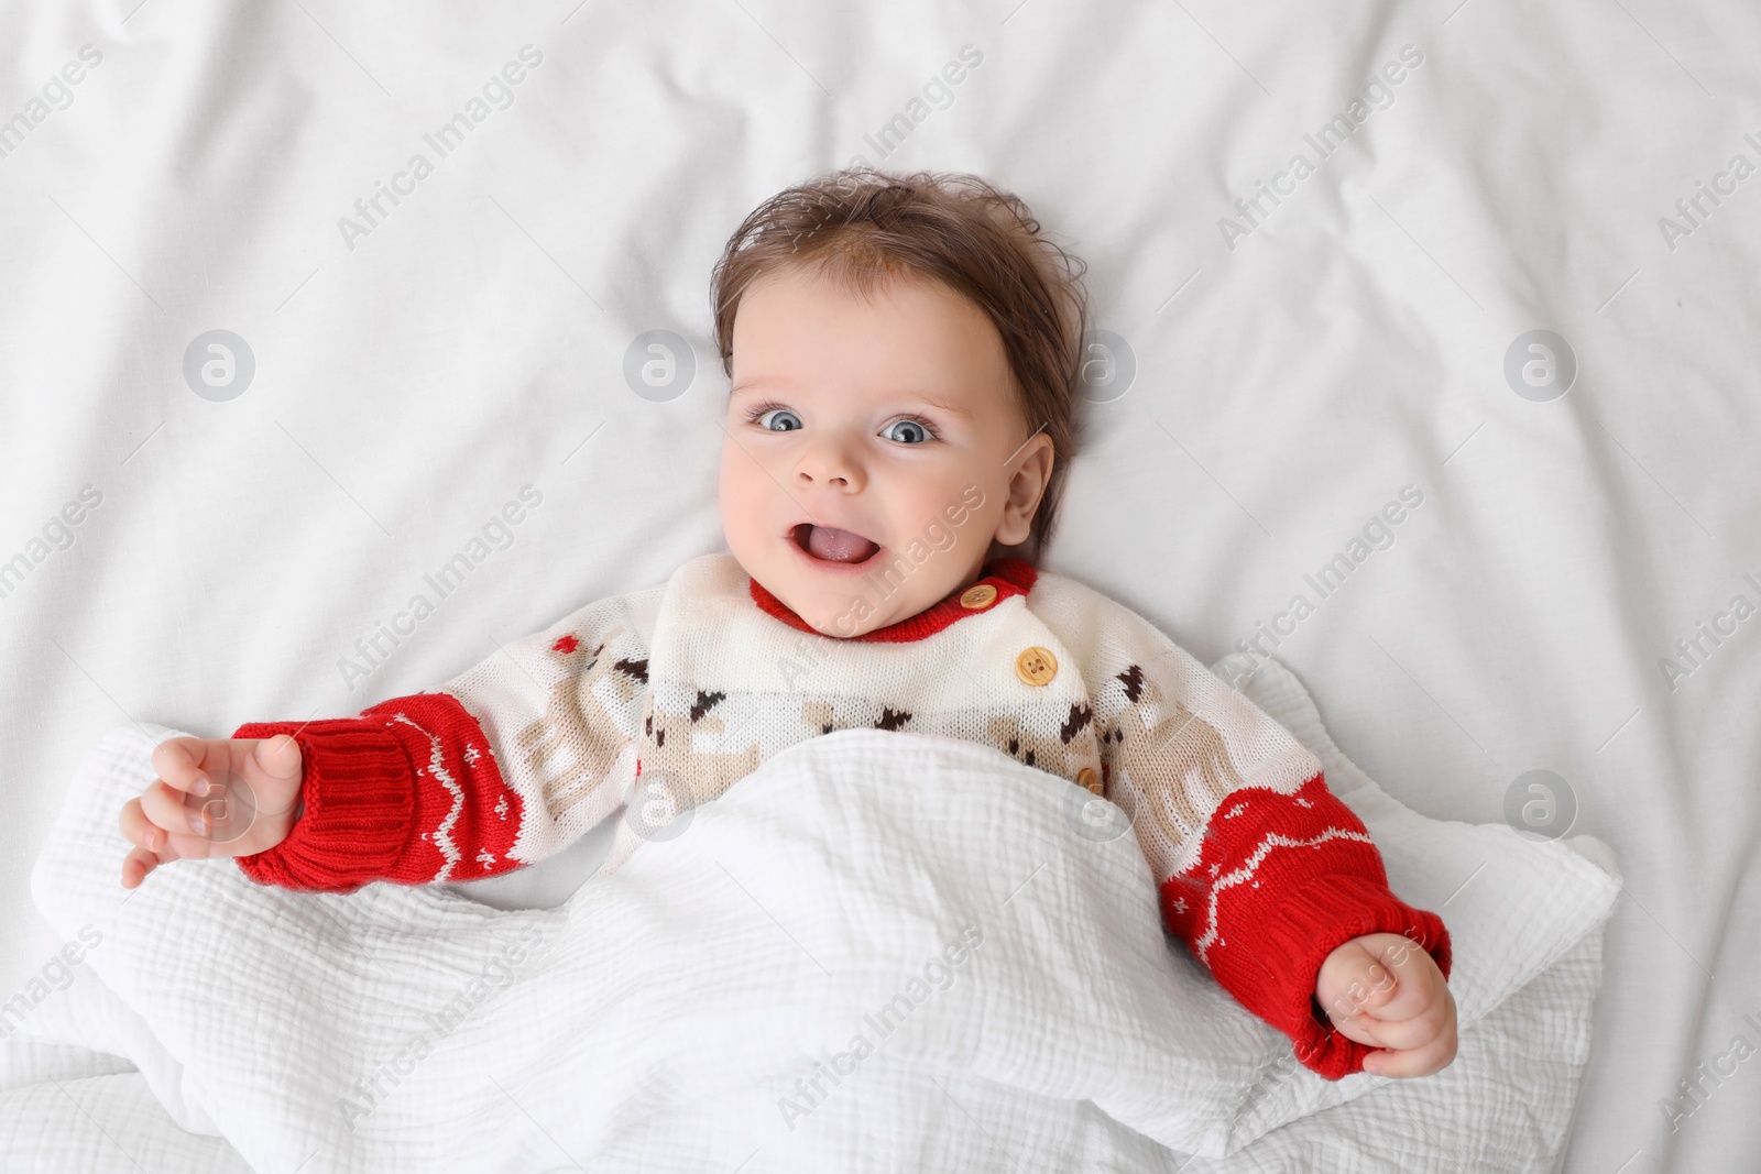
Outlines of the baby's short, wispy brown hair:
<svg viewBox="0 0 1761 1174">
<path fill-rule="evenodd" d="M 1028 535 L 1037 556 L 1076 454 L 1087 264 L 1044 239 L 1016 195 L 977 176 L 824 172 L 759 204 L 715 264 L 715 345 L 726 375 L 733 377 L 740 296 L 759 276 L 789 269 L 812 269 L 859 294 L 914 275 L 940 282 L 990 317 L 1023 422 L 1051 438 L 1051 479 Z"/>
</svg>

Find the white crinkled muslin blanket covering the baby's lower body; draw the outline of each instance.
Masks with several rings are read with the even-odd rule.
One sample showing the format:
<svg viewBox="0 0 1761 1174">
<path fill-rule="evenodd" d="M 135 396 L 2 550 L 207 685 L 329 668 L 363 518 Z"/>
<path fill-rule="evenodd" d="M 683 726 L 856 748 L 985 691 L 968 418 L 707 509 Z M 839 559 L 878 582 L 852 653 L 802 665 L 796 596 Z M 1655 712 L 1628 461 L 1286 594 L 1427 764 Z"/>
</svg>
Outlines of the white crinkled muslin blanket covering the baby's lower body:
<svg viewBox="0 0 1761 1174">
<path fill-rule="evenodd" d="M 1414 815 L 1280 665 L 1245 692 L 1321 757 L 1395 891 L 1446 917 L 1462 1046 L 1440 1075 L 1300 1068 L 1164 938 L 1136 841 L 1097 818 L 1118 811 L 977 745 L 814 739 L 562 906 L 498 912 L 275 891 L 227 861 L 130 894 L 116 811 L 151 771 L 122 727 L 33 873 L 83 949 L 0 1051 L 0 1163 L 104 1169 L 56 1149 L 53 1075 L 120 1151 L 181 1137 L 178 1169 L 238 1167 L 143 1116 L 141 1081 L 259 1170 L 1550 1169 L 1618 889 L 1606 847 Z"/>
</svg>

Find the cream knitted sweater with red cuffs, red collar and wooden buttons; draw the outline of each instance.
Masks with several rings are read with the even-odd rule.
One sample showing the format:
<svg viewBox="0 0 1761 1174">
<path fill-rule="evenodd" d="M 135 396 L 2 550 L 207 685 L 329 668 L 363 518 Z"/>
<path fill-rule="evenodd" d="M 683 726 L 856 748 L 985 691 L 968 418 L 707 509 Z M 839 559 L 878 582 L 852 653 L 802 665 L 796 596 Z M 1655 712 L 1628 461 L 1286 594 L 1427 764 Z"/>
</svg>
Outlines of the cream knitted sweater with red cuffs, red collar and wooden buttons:
<svg viewBox="0 0 1761 1174">
<path fill-rule="evenodd" d="M 1442 919 L 1389 892 L 1363 824 L 1289 730 L 1132 611 L 1013 558 L 909 620 L 835 639 L 708 554 L 438 692 L 241 725 L 234 737 L 294 736 L 305 810 L 238 862 L 259 884 L 333 892 L 493 877 L 637 789 L 690 808 L 852 727 L 986 743 L 1124 808 L 1168 931 L 1328 1079 L 1372 1051 L 1314 1002 L 1335 947 L 1404 933 L 1449 973 Z"/>
</svg>

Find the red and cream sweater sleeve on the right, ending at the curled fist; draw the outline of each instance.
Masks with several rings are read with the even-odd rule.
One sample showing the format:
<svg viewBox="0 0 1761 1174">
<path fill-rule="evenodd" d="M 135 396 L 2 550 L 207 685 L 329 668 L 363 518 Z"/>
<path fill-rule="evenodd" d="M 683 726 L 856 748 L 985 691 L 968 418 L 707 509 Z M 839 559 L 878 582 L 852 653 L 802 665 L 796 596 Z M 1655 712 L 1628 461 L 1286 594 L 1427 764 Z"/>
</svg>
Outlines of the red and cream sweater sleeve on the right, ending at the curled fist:
<svg viewBox="0 0 1761 1174">
<path fill-rule="evenodd" d="M 1090 642 L 1106 796 L 1132 818 L 1162 922 L 1326 1079 L 1374 1047 L 1315 1002 L 1321 963 L 1398 933 L 1449 977 L 1449 933 L 1388 887 L 1381 852 L 1296 736 L 1134 613 L 1108 604 Z"/>
</svg>

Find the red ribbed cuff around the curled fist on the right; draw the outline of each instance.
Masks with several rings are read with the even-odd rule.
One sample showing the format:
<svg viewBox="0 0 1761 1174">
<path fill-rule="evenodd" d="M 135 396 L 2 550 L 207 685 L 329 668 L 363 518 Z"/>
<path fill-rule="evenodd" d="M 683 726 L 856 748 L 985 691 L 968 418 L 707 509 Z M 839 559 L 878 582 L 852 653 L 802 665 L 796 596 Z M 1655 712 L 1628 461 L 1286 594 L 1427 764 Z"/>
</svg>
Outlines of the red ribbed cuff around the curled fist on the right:
<svg viewBox="0 0 1761 1174">
<path fill-rule="evenodd" d="M 1268 899 L 1256 924 L 1252 959 L 1231 958 L 1238 972 L 1234 984 L 1224 975 L 1217 980 L 1249 1010 L 1289 1035 L 1303 1067 L 1337 1081 L 1361 1072 L 1363 1058 L 1381 1049 L 1315 1021 L 1315 980 L 1328 954 L 1368 933 L 1411 938 L 1432 956 L 1442 977 L 1449 977 L 1449 931 L 1442 917 L 1412 908 L 1377 878 L 1333 873 Z M 1249 998 L 1238 987 L 1245 987 Z"/>
</svg>

